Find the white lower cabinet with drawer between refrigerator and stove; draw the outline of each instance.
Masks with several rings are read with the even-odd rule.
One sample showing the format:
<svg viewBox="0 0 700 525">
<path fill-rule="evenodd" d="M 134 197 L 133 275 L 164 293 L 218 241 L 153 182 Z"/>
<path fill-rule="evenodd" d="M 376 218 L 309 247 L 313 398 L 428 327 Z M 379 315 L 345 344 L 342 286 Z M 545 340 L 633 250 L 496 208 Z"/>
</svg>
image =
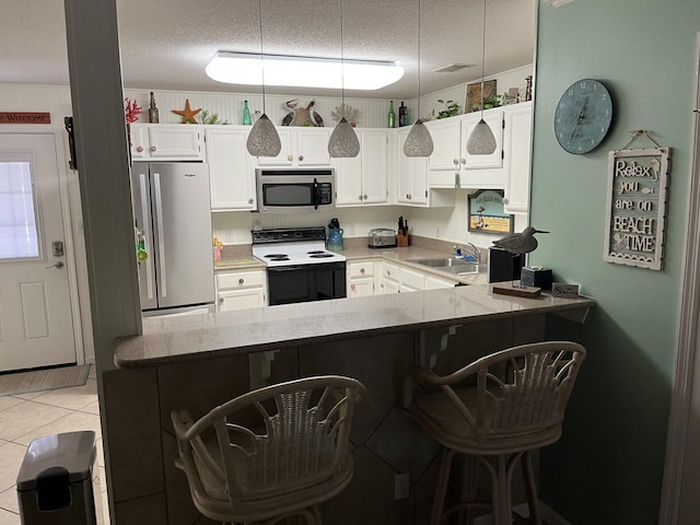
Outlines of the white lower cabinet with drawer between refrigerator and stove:
<svg viewBox="0 0 700 525">
<path fill-rule="evenodd" d="M 267 306 L 265 270 L 234 270 L 217 273 L 217 311 Z"/>
</svg>

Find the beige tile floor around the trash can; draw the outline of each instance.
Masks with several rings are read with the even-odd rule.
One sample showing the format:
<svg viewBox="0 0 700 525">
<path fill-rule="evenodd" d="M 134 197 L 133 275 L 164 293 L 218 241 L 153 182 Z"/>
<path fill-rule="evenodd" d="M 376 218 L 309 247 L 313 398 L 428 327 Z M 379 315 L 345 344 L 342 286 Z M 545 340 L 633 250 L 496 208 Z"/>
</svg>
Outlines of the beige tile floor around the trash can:
<svg viewBox="0 0 700 525">
<path fill-rule="evenodd" d="M 105 464 L 94 370 L 84 386 L 0 397 L 0 525 L 21 524 L 15 482 L 32 440 L 80 430 L 92 430 L 97 435 L 100 495 L 102 508 L 106 510 Z"/>
</svg>

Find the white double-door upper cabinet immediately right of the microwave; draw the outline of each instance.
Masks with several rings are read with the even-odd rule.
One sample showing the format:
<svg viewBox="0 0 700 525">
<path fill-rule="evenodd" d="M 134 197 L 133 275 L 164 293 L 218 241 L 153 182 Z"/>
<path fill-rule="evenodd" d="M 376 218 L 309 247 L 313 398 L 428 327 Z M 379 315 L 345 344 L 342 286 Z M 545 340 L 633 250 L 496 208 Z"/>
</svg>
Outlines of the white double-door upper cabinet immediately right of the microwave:
<svg viewBox="0 0 700 525">
<path fill-rule="evenodd" d="M 388 202 L 388 131 L 357 129 L 360 154 L 334 159 L 336 206 L 385 205 Z"/>
</svg>

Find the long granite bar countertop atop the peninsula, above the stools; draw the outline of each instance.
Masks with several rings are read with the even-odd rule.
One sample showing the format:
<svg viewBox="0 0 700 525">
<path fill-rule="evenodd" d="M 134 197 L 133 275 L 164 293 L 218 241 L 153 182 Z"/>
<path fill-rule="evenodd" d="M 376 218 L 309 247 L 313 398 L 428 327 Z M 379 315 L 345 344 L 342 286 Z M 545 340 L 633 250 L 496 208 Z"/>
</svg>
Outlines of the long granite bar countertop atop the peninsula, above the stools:
<svg viewBox="0 0 700 525">
<path fill-rule="evenodd" d="M 117 340 L 115 363 L 135 369 L 294 347 L 308 342 L 413 331 L 497 318 L 557 313 L 582 322 L 588 298 L 493 294 L 490 284 L 144 318 L 143 335 Z"/>
</svg>

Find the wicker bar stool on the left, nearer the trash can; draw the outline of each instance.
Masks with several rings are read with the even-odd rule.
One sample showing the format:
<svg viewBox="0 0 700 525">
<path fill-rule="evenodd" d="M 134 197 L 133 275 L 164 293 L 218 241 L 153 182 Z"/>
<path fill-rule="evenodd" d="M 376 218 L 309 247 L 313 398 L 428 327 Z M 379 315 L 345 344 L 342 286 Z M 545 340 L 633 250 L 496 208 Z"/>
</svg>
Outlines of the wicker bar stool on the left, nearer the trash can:
<svg viewBox="0 0 700 525">
<path fill-rule="evenodd" d="M 350 377 L 317 376 L 267 386 L 194 422 L 171 413 L 195 506 L 224 523 L 319 524 L 318 504 L 352 479 L 348 440 L 366 390 Z"/>
</svg>

